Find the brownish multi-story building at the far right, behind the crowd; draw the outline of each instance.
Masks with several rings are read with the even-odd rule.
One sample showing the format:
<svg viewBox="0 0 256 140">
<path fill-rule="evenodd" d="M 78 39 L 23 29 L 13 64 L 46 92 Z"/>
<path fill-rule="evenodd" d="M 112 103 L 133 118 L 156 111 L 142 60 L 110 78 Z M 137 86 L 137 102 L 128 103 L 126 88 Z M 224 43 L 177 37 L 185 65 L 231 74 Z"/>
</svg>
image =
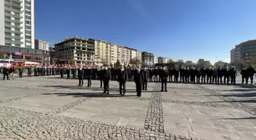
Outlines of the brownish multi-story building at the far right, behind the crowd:
<svg viewBox="0 0 256 140">
<path fill-rule="evenodd" d="M 249 40 L 235 45 L 230 51 L 230 62 L 244 61 L 249 62 L 251 59 L 256 58 L 256 40 Z"/>
</svg>

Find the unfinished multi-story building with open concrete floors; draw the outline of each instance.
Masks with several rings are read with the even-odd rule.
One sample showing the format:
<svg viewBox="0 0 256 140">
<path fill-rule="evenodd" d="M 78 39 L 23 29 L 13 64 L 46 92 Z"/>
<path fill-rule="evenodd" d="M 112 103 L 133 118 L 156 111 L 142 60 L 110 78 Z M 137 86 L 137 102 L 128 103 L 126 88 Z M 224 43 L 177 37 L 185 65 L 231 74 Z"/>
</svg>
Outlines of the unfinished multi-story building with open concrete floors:
<svg viewBox="0 0 256 140">
<path fill-rule="evenodd" d="M 94 39 L 82 37 L 67 38 L 55 44 L 56 58 L 75 61 L 75 64 L 94 64 Z M 67 64 L 66 61 L 57 61 L 58 64 Z"/>
</svg>

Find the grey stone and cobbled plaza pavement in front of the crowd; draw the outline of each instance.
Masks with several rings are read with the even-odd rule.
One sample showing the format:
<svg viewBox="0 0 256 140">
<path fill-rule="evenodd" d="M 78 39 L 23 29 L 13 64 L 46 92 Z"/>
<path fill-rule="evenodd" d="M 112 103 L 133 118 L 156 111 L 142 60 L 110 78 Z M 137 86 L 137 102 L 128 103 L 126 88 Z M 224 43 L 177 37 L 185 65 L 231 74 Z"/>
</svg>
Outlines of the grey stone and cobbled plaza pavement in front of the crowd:
<svg viewBox="0 0 256 140">
<path fill-rule="evenodd" d="M 0 139 L 256 139 L 256 86 L 159 82 L 136 97 L 98 80 L 59 76 L 0 81 Z M 85 85 L 87 81 L 85 80 Z"/>
</svg>

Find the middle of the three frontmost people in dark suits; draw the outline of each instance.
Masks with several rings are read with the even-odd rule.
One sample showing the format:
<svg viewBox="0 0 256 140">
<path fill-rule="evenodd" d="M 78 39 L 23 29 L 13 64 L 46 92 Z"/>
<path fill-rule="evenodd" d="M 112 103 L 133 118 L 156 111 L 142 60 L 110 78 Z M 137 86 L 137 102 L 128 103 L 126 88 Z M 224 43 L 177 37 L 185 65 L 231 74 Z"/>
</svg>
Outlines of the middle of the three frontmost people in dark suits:
<svg viewBox="0 0 256 140">
<path fill-rule="evenodd" d="M 123 66 L 120 68 L 120 72 L 117 75 L 117 82 L 119 82 L 119 91 L 120 95 L 125 95 L 126 93 L 126 81 L 128 79 L 127 70 L 124 70 Z M 122 86 L 123 86 L 123 94 L 122 94 Z"/>
</svg>

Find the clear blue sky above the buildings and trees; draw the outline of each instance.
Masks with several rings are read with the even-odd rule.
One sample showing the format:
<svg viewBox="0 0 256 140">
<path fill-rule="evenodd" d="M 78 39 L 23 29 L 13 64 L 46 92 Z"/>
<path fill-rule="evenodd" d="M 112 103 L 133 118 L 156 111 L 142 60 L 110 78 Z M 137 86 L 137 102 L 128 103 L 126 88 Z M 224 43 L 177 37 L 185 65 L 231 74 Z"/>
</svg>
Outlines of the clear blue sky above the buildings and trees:
<svg viewBox="0 0 256 140">
<path fill-rule="evenodd" d="M 230 61 L 256 39 L 255 0 L 36 0 L 35 36 L 104 39 L 156 56 Z"/>
</svg>

